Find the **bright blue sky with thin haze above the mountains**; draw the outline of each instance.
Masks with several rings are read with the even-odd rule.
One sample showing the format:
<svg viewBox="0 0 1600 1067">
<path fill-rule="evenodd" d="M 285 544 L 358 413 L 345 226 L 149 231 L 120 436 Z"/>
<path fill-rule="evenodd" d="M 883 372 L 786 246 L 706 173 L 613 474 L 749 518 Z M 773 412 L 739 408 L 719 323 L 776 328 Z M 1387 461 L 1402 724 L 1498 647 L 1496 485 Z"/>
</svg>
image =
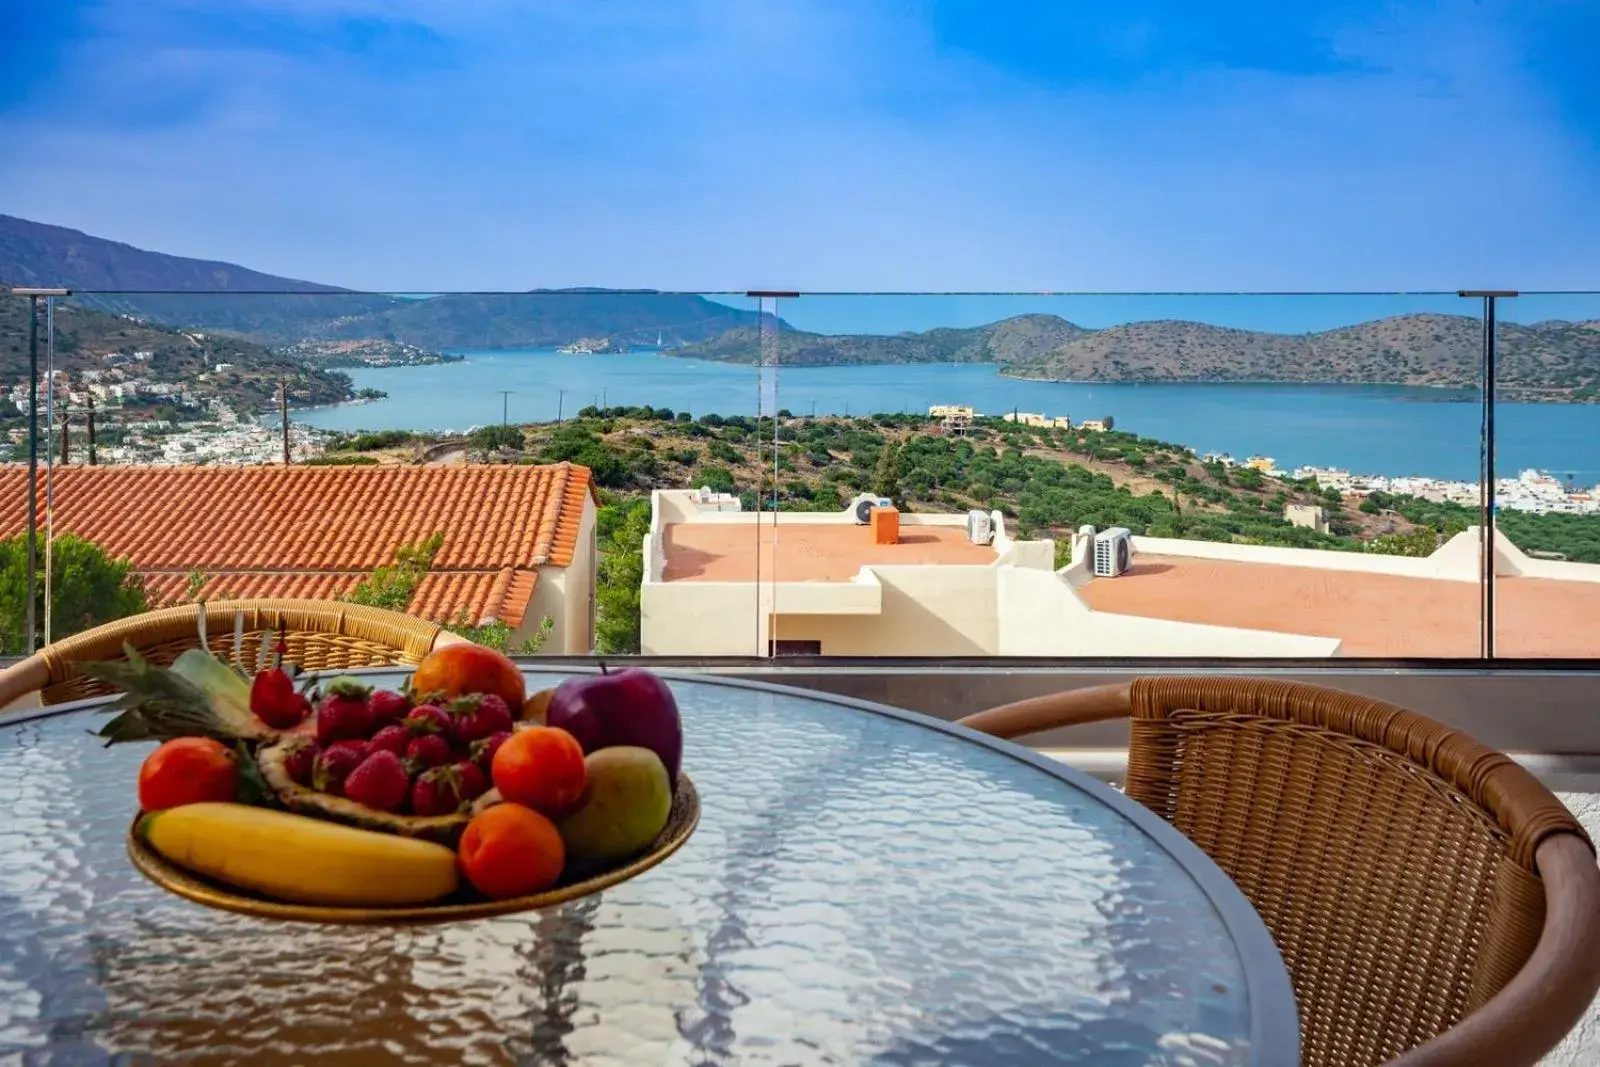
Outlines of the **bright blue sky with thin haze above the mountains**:
<svg viewBox="0 0 1600 1067">
<path fill-rule="evenodd" d="M 1595 40 L 1595 0 L 3 0 L 0 211 L 382 290 L 1600 288 Z"/>
</svg>

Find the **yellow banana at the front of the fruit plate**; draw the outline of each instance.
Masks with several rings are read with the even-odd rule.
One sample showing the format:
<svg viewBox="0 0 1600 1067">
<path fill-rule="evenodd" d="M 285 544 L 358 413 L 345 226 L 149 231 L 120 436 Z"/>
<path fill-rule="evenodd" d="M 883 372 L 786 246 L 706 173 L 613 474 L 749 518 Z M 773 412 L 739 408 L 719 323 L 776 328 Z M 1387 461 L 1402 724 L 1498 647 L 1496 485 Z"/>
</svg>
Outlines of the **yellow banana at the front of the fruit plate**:
<svg viewBox="0 0 1600 1067">
<path fill-rule="evenodd" d="M 139 835 L 179 867 L 294 904 L 430 904 L 458 886 L 443 845 L 250 805 L 155 811 Z"/>
</svg>

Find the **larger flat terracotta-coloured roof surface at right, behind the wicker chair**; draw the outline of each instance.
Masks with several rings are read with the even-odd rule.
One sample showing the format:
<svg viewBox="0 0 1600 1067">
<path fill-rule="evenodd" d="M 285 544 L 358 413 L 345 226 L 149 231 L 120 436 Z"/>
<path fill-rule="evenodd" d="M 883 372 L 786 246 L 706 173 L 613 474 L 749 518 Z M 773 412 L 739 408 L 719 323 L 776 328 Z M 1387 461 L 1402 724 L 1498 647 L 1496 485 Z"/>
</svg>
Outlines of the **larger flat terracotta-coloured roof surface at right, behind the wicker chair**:
<svg viewBox="0 0 1600 1067">
<path fill-rule="evenodd" d="M 1341 656 L 1478 654 L 1475 582 L 1141 555 L 1078 592 L 1096 611 L 1336 637 Z M 1501 656 L 1600 656 L 1600 582 L 1501 577 L 1494 614 Z"/>
</svg>

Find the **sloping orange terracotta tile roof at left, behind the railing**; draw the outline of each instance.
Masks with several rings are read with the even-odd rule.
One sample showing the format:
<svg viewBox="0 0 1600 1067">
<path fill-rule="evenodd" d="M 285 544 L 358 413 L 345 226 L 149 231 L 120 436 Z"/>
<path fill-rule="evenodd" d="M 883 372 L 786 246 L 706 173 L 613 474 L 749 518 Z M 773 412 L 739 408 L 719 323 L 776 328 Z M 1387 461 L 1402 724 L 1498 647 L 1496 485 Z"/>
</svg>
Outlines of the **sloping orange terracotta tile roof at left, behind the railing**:
<svg viewBox="0 0 1600 1067">
<path fill-rule="evenodd" d="M 26 530 L 26 469 L 0 467 L 0 536 Z M 341 597 L 440 531 L 410 611 L 520 625 L 539 568 L 571 565 L 590 496 L 573 464 L 59 467 L 54 525 L 126 555 L 154 603 L 186 600 L 192 569 L 206 598 Z"/>
</svg>

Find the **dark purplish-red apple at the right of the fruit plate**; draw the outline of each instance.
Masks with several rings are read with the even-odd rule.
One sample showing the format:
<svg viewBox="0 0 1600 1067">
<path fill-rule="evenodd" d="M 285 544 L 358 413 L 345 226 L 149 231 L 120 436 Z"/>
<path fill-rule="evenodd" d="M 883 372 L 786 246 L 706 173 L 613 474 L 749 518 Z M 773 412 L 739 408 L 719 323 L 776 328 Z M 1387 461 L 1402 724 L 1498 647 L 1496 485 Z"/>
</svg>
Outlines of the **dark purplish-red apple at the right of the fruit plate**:
<svg viewBox="0 0 1600 1067">
<path fill-rule="evenodd" d="M 677 789 L 683 720 L 667 683 L 642 667 L 568 678 L 550 694 L 544 725 L 578 737 L 584 755 L 614 745 L 650 749 Z"/>
</svg>

